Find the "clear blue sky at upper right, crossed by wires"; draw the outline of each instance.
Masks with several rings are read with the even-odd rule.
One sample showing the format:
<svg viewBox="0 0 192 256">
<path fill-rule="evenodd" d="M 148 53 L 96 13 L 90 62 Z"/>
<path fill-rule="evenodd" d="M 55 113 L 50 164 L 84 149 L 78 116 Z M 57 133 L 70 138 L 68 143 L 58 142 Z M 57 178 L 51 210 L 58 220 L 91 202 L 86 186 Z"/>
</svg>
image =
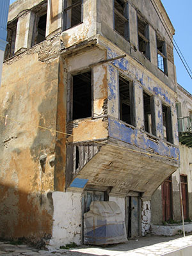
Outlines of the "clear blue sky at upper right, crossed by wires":
<svg viewBox="0 0 192 256">
<path fill-rule="evenodd" d="M 191 0 L 161 0 L 173 27 L 175 28 L 174 39 L 179 45 L 180 51 L 192 70 L 192 1 Z M 10 0 L 10 4 L 15 0 Z M 192 94 L 192 79 L 182 65 L 177 52 L 174 51 L 177 82 Z"/>
</svg>

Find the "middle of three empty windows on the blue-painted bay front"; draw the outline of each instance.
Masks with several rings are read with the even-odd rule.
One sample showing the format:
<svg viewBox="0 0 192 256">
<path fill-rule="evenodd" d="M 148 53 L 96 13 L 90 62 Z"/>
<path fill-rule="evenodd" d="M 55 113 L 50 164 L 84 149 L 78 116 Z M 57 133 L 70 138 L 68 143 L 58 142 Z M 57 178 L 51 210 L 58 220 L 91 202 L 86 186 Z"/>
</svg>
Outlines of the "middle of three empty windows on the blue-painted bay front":
<svg viewBox="0 0 192 256">
<path fill-rule="evenodd" d="M 144 127 L 145 131 L 156 135 L 154 97 L 143 91 L 143 106 L 144 106 Z"/>
</svg>

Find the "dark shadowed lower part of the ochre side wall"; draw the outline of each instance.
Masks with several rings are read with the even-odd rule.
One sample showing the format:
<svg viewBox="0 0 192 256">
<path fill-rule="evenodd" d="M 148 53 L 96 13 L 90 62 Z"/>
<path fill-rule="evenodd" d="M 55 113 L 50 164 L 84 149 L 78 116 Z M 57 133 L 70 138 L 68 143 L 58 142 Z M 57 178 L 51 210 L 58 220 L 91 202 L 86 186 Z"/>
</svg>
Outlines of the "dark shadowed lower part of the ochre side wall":
<svg viewBox="0 0 192 256">
<path fill-rule="evenodd" d="M 28 186 L 28 184 L 26 184 Z M 0 237 L 46 244 L 52 232 L 52 193 L 25 193 L 0 183 Z"/>
</svg>

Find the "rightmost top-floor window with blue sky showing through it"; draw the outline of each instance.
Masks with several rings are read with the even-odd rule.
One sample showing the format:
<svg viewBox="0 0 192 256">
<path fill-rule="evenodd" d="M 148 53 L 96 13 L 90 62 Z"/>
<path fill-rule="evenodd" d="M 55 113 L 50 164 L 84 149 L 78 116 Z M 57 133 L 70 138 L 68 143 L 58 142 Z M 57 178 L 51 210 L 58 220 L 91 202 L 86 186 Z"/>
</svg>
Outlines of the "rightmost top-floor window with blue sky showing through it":
<svg viewBox="0 0 192 256">
<path fill-rule="evenodd" d="M 168 75 L 167 69 L 167 58 L 166 58 L 166 45 L 165 42 L 157 38 L 157 67 L 164 72 L 164 74 Z"/>
</svg>

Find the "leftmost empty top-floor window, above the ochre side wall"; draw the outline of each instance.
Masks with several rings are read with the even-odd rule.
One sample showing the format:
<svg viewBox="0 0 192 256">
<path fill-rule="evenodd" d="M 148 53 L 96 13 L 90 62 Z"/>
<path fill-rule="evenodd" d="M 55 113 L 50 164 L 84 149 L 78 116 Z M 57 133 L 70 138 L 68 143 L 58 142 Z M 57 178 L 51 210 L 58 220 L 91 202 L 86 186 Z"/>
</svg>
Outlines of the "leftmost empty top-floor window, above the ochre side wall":
<svg viewBox="0 0 192 256">
<path fill-rule="evenodd" d="M 4 60 L 11 58 L 15 54 L 15 40 L 16 40 L 16 31 L 17 31 L 17 20 L 8 25 L 7 28 L 7 37 L 6 49 L 4 52 Z"/>
</svg>

